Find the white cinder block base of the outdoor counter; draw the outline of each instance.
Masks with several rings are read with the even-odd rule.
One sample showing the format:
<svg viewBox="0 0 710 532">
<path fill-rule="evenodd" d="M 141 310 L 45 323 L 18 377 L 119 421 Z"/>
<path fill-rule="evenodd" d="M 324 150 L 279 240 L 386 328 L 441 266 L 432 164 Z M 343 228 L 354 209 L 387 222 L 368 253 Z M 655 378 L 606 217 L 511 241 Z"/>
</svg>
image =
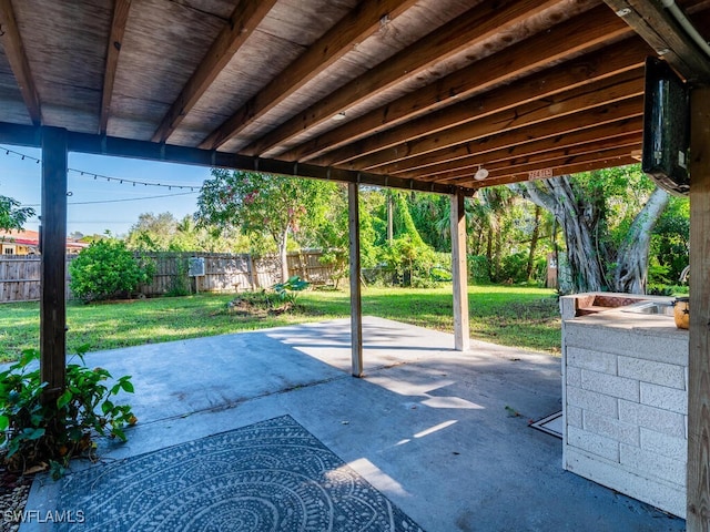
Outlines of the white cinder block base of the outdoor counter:
<svg viewBox="0 0 710 532">
<path fill-rule="evenodd" d="M 684 518 L 687 332 L 579 321 L 562 325 L 565 469 Z"/>
</svg>

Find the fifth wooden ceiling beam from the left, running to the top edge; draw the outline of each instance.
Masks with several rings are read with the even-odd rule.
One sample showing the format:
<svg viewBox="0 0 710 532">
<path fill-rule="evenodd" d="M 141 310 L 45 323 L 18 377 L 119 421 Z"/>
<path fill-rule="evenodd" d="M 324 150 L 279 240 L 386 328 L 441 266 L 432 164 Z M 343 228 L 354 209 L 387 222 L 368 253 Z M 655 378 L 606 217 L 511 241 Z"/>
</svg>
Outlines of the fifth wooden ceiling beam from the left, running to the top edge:
<svg viewBox="0 0 710 532">
<path fill-rule="evenodd" d="M 348 109 L 372 98 L 373 94 L 387 90 L 402 80 L 412 79 L 427 68 L 440 65 L 448 58 L 470 48 L 476 42 L 483 42 L 497 33 L 505 32 L 506 29 L 528 18 L 530 12 L 542 11 L 555 3 L 549 0 L 480 2 L 466 13 L 425 35 L 410 47 L 298 113 L 292 120 L 264 135 L 263 139 L 252 143 L 244 150 L 244 153 L 252 155 L 265 153 L 270 147 L 323 124 L 338 112 L 347 112 Z M 615 23 L 619 27 L 623 25 Z M 587 25 L 589 24 L 587 23 Z M 477 72 L 476 75 L 481 75 L 481 72 L 485 71 Z M 455 93 L 444 92 L 444 100 L 456 98 Z M 433 104 L 436 104 L 436 101 Z M 419 109 L 419 111 L 423 110 Z M 356 122 L 359 123 L 359 120 L 357 119 Z M 387 122 L 389 122 L 389 117 L 387 117 Z M 382 122 L 376 125 L 382 125 Z M 349 127 L 346 130 L 349 131 Z M 361 131 L 362 127 L 357 127 L 357 130 Z M 287 158 L 295 161 L 302 157 L 290 156 Z"/>
</svg>

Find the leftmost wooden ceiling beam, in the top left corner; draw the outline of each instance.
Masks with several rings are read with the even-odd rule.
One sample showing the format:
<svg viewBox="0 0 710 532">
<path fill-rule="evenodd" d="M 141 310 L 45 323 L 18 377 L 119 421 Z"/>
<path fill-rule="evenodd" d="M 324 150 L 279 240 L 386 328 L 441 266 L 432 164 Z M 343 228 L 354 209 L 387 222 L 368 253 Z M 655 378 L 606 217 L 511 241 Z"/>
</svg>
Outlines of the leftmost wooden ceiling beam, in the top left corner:
<svg viewBox="0 0 710 532">
<path fill-rule="evenodd" d="M 40 125 L 42 122 L 42 110 L 40 106 L 40 99 L 37 92 L 37 85 L 30 71 L 30 63 L 27 59 L 24 51 L 24 44 L 22 44 L 22 37 L 18 28 L 17 20 L 14 18 L 14 10 L 12 9 L 11 0 L 0 0 L 0 41 L 14 79 L 18 82 L 18 88 L 24 100 L 27 112 L 30 115 L 30 120 L 34 125 Z"/>
</svg>

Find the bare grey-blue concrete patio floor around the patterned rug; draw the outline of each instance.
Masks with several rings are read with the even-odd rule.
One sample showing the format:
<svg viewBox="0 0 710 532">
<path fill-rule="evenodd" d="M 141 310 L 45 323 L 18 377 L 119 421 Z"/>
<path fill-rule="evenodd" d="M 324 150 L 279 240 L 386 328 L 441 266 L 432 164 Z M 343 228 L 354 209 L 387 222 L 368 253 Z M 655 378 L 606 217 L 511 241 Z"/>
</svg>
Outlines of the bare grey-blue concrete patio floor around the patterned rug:
<svg viewBox="0 0 710 532">
<path fill-rule="evenodd" d="M 561 440 L 528 427 L 561 409 L 559 359 L 479 341 L 457 352 L 452 335 L 379 318 L 363 330 L 363 379 L 345 319 L 89 354 L 135 386 L 139 424 L 102 458 L 287 413 L 429 532 L 684 530 L 562 471 Z M 36 481 L 27 509 L 54 510 L 57 485 Z"/>
</svg>

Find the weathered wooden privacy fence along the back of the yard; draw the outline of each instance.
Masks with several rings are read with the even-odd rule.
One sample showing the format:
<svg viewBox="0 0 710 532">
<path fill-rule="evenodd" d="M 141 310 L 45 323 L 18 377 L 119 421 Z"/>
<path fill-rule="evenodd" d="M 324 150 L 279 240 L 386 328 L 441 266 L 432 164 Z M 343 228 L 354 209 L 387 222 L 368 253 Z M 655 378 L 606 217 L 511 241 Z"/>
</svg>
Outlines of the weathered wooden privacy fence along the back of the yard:
<svg viewBox="0 0 710 532">
<path fill-rule="evenodd" d="M 290 253 L 288 274 L 312 284 L 331 280 L 331 268 L 321 264 L 322 252 Z M 180 291 L 246 291 L 267 288 L 281 280 L 277 257 L 253 257 L 248 254 L 223 253 L 143 253 L 138 257 L 154 264 L 151 284 L 143 285 L 139 293 L 144 296 L 160 296 Z M 69 289 L 69 263 L 75 255 L 67 257 L 67 297 Z M 189 276 L 191 257 L 204 259 L 204 275 Z M 40 299 L 39 256 L 0 257 L 0 303 L 37 301 Z"/>
</svg>

